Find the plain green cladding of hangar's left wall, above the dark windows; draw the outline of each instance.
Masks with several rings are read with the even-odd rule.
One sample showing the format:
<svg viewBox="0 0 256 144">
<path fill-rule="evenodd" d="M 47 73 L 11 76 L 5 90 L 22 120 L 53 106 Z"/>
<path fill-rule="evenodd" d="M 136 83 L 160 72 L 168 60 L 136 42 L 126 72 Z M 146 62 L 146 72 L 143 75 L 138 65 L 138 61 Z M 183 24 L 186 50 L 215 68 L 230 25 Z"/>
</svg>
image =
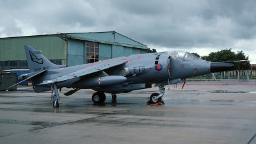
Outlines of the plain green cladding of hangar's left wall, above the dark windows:
<svg viewBox="0 0 256 144">
<path fill-rule="evenodd" d="M 1 61 L 26 60 L 24 45 L 31 45 L 35 49 L 42 50 L 44 56 L 49 60 L 66 59 L 66 43 L 61 38 L 57 36 L 24 36 L 0 38 Z"/>
</svg>

